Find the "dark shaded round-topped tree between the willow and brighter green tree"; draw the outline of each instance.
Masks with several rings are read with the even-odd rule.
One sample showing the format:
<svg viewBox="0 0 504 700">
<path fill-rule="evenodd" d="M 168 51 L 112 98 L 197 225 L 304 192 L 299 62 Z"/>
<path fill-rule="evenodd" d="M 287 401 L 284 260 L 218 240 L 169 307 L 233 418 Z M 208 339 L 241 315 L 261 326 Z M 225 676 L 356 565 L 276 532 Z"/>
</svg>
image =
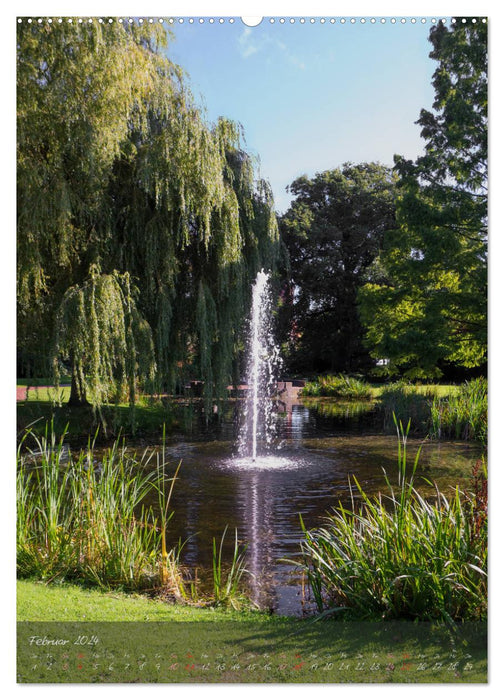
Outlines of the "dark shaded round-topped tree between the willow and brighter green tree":
<svg viewBox="0 0 504 700">
<path fill-rule="evenodd" d="M 299 371 L 358 371 L 370 358 L 362 346 L 357 290 L 394 225 L 394 176 L 378 163 L 301 177 L 281 219 L 290 254 L 290 364 Z M 289 298 L 290 294 L 290 298 Z"/>
</svg>

